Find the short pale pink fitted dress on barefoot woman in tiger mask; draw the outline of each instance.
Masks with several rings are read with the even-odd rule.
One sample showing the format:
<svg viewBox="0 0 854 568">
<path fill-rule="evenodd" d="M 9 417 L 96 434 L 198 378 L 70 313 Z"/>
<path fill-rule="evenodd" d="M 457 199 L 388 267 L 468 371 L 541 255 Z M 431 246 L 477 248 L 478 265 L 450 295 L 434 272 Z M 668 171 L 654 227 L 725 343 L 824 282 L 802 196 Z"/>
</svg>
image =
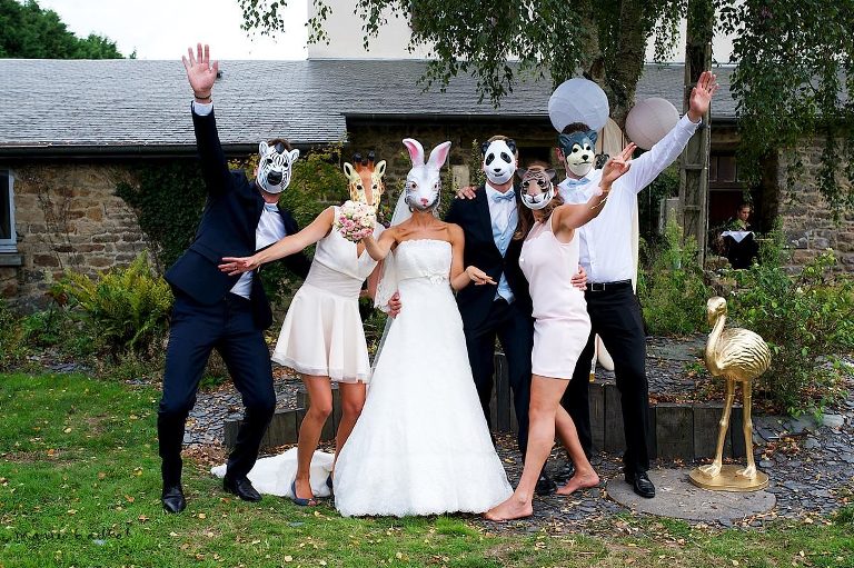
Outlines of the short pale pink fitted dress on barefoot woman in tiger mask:
<svg viewBox="0 0 854 568">
<path fill-rule="evenodd" d="M 572 379 L 590 335 L 584 292 L 572 282 L 578 272 L 578 230 L 573 240 L 560 242 L 552 230 L 552 216 L 545 223 L 534 223 L 522 246 L 519 268 L 534 303 L 532 371 L 540 377 Z"/>
</svg>

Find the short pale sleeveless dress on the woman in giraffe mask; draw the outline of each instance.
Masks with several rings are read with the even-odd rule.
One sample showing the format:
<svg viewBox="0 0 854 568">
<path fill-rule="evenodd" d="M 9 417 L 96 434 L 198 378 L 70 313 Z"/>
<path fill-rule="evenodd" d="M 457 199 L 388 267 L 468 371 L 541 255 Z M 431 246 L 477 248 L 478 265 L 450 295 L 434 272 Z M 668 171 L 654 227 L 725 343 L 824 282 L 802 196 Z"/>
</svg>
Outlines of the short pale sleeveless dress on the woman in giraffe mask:
<svg viewBox="0 0 854 568">
<path fill-rule="evenodd" d="M 381 232 L 377 225 L 374 238 Z M 357 256 L 357 245 L 337 229 L 319 240 L 311 269 L 281 325 L 272 360 L 302 375 L 368 382 L 370 360 L 359 317 L 359 293 L 376 266 L 367 250 Z"/>
</svg>

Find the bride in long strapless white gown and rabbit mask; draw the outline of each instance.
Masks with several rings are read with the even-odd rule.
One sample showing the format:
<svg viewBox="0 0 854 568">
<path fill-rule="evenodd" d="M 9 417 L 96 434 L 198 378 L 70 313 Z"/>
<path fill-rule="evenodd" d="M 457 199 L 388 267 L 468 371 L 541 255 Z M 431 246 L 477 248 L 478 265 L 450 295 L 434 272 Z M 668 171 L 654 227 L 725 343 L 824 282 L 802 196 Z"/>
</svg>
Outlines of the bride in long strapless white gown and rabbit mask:
<svg viewBox="0 0 854 568">
<path fill-rule="evenodd" d="M 404 143 L 415 165 L 406 186 L 411 218 L 365 240 L 374 259 L 394 267 L 380 289 L 396 288 L 403 309 L 338 456 L 335 506 L 344 516 L 484 512 L 513 490 L 480 409 L 451 287 L 495 282 L 476 267 L 464 270 L 463 230 L 433 215 L 450 142 L 426 165 L 417 141 Z"/>
</svg>

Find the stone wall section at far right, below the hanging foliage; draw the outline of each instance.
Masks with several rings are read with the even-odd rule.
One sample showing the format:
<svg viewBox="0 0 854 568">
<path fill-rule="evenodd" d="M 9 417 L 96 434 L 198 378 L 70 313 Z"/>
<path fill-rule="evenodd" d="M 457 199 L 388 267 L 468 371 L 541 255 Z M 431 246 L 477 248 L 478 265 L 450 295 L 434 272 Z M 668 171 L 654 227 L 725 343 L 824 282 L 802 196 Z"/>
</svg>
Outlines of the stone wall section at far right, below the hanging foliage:
<svg viewBox="0 0 854 568">
<path fill-rule="evenodd" d="M 776 213 L 782 222 L 786 242 L 794 249 L 793 265 L 804 265 L 831 248 L 845 271 L 854 271 L 854 212 L 834 220 L 827 201 L 818 191 L 816 176 L 821 167 L 823 141 L 804 145 L 796 151 L 782 152 L 777 159 Z M 803 172 L 790 182 L 787 168 L 801 160 Z M 850 183 L 840 175 L 844 190 Z"/>
</svg>

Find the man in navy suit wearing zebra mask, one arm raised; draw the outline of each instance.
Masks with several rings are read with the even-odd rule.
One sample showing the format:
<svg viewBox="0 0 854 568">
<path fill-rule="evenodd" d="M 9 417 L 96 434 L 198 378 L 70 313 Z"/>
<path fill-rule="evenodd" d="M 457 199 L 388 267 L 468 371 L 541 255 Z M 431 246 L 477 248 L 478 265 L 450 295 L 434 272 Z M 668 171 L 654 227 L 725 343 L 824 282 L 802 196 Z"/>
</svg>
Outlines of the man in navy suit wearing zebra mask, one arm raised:
<svg viewBox="0 0 854 568">
<path fill-rule="evenodd" d="M 290 182 L 290 166 L 299 156 L 285 140 L 259 146 L 261 159 L 256 179 L 229 171 L 214 118 L 211 92 L 218 62 L 210 61 L 208 46 L 197 46 L 193 57 L 182 58 L 192 88 L 192 123 L 208 199 L 196 239 L 167 271 L 175 292 L 169 347 L 163 375 L 163 396 L 157 419 L 163 492 L 169 512 L 186 507 L 181 487 L 181 445 L 187 415 L 196 402 L 199 380 L 212 349 L 226 362 L 242 396 L 246 413 L 228 458 L 224 488 L 240 499 L 261 496 L 247 479 L 258 448 L 276 409 L 270 353 L 264 330 L 272 321 L 270 305 L 257 273 L 227 276 L 217 265 L 222 257 L 244 257 L 297 232 L 288 211 L 278 207 Z M 288 268 L 300 277 L 309 261 L 300 255 L 286 257 Z"/>
</svg>

